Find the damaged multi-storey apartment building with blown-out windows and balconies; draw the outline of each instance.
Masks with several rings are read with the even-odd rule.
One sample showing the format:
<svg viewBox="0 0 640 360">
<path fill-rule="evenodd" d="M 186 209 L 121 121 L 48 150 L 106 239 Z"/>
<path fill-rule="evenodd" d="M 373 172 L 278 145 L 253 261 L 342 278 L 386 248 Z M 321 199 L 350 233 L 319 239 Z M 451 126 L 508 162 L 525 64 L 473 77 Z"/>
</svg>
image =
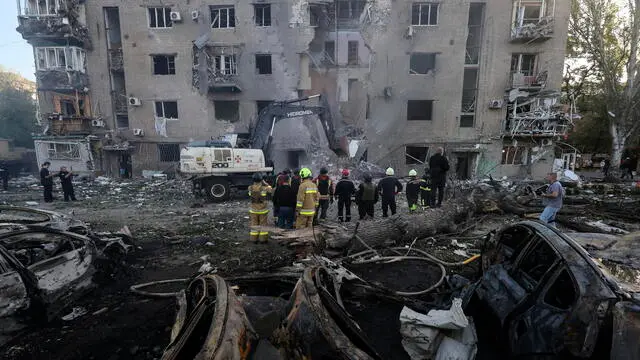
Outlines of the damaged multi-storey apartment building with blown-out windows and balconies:
<svg viewBox="0 0 640 360">
<path fill-rule="evenodd" d="M 351 157 L 401 174 L 443 146 L 459 178 L 540 176 L 567 129 L 566 1 L 19 4 L 36 142 L 87 170 L 175 170 L 189 141 L 248 133 L 270 102 L 314 94 Z M 276 167 L 308 165 L 323 136 L 313 119 L 278 122 Z"/>
</svg>

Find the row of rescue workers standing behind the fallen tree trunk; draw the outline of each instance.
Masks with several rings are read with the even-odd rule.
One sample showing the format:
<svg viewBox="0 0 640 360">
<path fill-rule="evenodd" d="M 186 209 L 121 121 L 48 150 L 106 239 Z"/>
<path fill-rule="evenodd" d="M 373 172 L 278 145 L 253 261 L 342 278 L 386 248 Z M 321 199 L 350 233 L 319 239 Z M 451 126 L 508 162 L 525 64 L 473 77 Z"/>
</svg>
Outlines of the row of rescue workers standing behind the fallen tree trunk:
<svg viewBox="0 0 640 360">
<path fill-rule="evenodd" d="M 443 155 L 443 149 L 438 148 L 429 159 L 429 168 L 425 169 L 422 178 L 417 178 L 415 170 L 409 172 L 406 195 L 410 211 L 416 211 L 418 203 L 423 209 L 442 205 L 447 171 L 449 162 Z M 254 242 L 266 242 L 268 239 L 269 201 L 273 202 L 279 228 L 303 229 L 326 219 L 329 206 L 336 200 L 340 222 L 351 221 L 352 199 L 357 204 L 360 220 L 374 217 L 375 204 L 380 199 L 382 216 L 389 216 L 389 211 L 395 215 L 396 196 L 403 190 L 393 168 L 388 168 L 386 176 L 377 184 L 373 183 L 371 174 L 363 174 L 363 182 L 356 186 L 350 179 L 349 169 L 343 169 L 340 180 L 334 183 L 327 168 L 320 169 L 315 178 L 308 168 L 293 172 L 285 169 L 273 183 L 271 186 L 263 174 L 256 173 L 253 185 L 249 187 L 250 239 Z"/>
</svg>

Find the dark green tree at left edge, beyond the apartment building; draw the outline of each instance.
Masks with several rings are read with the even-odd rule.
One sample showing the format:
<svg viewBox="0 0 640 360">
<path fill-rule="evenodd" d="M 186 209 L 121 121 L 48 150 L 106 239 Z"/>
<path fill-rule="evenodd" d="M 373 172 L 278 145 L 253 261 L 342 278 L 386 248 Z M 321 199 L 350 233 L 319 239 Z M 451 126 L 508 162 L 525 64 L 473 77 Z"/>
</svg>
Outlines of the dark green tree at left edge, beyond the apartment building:
<svg viewBox="0 0 640 360">
<path fill-rule="evenodd" d="M 0 68 L 0 138 L 15 146 L 33 148 L 36 105 L 33 82 Z"/>
</svg>

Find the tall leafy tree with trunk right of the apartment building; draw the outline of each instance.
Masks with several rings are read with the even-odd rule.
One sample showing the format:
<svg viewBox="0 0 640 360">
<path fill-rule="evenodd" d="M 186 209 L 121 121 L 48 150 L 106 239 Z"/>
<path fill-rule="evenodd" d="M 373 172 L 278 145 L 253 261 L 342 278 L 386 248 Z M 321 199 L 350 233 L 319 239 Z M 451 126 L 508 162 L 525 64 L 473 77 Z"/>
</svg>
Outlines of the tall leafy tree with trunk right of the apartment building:
<svg viewBox="0 0 640 360">
<path fill-rule="evenodd" d="M 611 163 L 620 164 L 627 140 L 640 128 L 640 0 L 572 0 L 569 54 L 594 68 L 606 106 Z"/>
</svg>

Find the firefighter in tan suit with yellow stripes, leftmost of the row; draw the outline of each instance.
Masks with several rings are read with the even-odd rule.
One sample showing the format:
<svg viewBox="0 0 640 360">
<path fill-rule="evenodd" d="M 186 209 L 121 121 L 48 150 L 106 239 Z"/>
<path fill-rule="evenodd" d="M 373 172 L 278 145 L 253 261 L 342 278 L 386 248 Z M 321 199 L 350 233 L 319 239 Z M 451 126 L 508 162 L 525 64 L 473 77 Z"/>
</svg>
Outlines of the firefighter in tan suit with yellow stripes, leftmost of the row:
<svg viewBox="0 0 640 360">
<path fill-rule="evenodd" d="M 253 174 L 253 185 L 249 186 L 249 198 L 251 199 L 249 239 L 254 243 L 258 241 L 266 243 L 269 239 L 269 231 L 263 227 L 267 226 L 267 218 L 269 217 L 267 206 L 271 192 L 271 186 L 264 180 L 264 176 L 261 173 Z"/>
</svg>

